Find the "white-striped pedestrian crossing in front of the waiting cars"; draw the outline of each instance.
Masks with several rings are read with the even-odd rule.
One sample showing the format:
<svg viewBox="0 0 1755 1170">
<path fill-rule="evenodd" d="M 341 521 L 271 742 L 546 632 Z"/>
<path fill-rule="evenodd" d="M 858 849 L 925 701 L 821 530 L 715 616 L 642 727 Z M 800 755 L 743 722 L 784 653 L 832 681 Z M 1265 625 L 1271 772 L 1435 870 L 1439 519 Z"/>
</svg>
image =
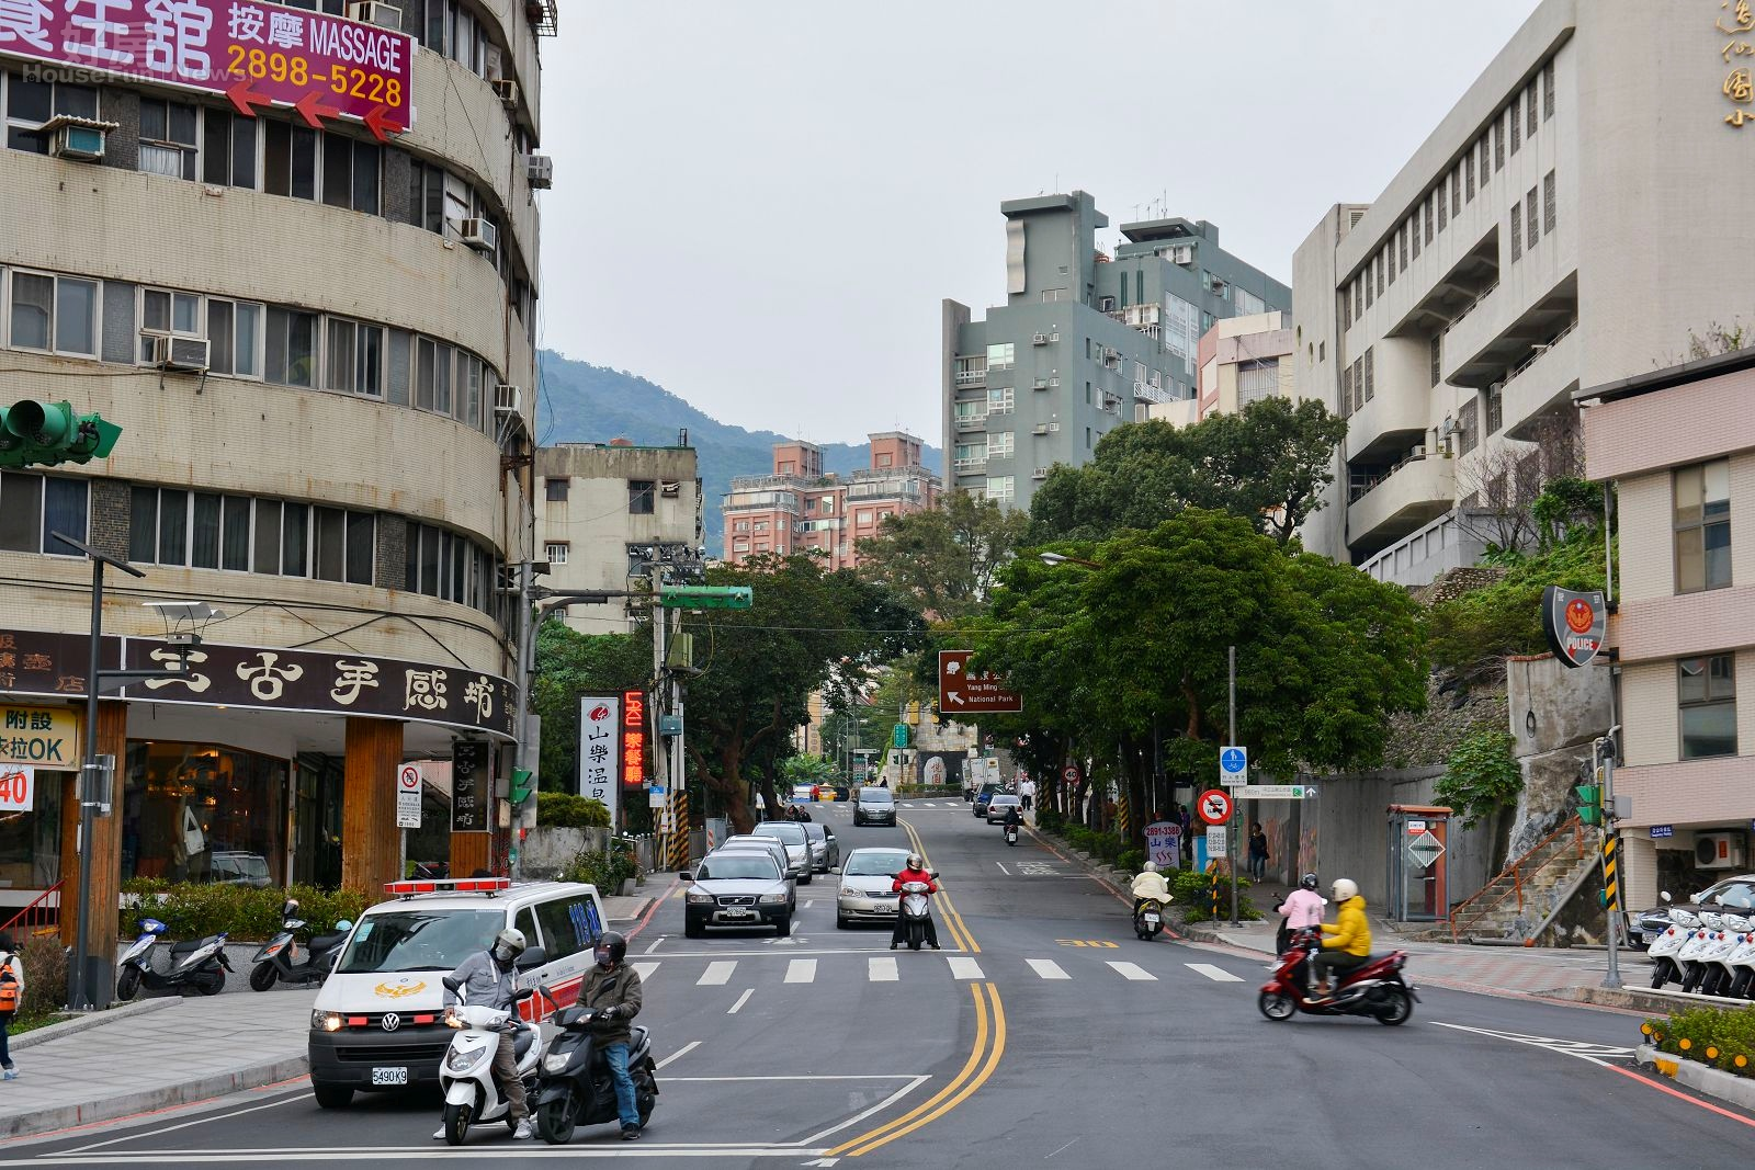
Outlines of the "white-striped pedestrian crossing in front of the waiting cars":
<svg viewBox="0 0 1755 1170">
<path fill-rule="evenodd" d="M 660 982 L 690 981 L 698 988 L 725 988 L 737 982 L 741 972 L 744 979 L 772 979 L 770 961 L 767 956 L 748 961 L 711 960 L 702 967 L 698 956 L 677 956 L 642 960 L 634 963 L 634 970 L 639 972 L 642 982 L 655 979 Z M 902 954 L 870 954 L 862 961 L 855 954 L 832 952 L 827 960 L 788 958 L 784 963 L 781 982 L 786 984 L 814 984 L 820 981 L 844 984 L 849 977 L 858 977 L 858 967 L 863 967 L 865 982 L 909 982 L 942 979 L 944 975 L 949 975 L 953 982 L 978 982 L 995 977 L 1006 979 L 1014 974 L 1023 974 L 1041 982 L 1088 982 L 1092 979 L 1169 982 L 1183 979 L 1185 972 L 1209 982 L 1244 981 L 1243 975 L 1228 972 L 1216 963 L 1178 963 L 1153 972 L 1130 960 L 1097 960 L 1095 956 L 1083 961 L 1069 958 L 1065 965 L 1058 960 L 1023 958 L 1020 965 L 1018 958 L 990 954 L 907 954 L 906 958 Z"/>
</svg>

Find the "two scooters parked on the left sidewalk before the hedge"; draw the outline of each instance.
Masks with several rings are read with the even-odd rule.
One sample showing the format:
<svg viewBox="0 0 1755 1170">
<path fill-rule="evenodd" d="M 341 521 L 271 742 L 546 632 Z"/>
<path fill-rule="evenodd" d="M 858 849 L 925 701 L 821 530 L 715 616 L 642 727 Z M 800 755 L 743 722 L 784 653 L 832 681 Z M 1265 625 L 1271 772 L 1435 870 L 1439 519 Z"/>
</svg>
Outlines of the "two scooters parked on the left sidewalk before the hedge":
<svg viewBox="0 0 1755 1170">
<path fill-rule="evenodd" d="M 335 923 L 332 933 L 316 935 L 300 945 L 298 933 L 305 926 L 307 923 L 298 917 L 298 900 L 288 898 L 286 905 L 281 907 L 281 933 L 261 944 L 256 958 L 251 960 L 249 986 L 253 989 L 269 991 L 281 982 L 311 986 L 328 979 L 353 923 L 342 919 Z M 116 972 L 116 998 L 132 1000 L 140 988 L 147 991 L 195 988 L 202 995 L 219 995 L 225 989 L 226 972 L 232 970 L 232 961 L 225 952 L 228 931 L 172 942 L 170 965 L 160 970 L 154 956 L 158 944 L 165 942 L 165 930 L 167 926 L 156 917 L 140 919 L 140 937 L 123 952 Z"/>
</svg>

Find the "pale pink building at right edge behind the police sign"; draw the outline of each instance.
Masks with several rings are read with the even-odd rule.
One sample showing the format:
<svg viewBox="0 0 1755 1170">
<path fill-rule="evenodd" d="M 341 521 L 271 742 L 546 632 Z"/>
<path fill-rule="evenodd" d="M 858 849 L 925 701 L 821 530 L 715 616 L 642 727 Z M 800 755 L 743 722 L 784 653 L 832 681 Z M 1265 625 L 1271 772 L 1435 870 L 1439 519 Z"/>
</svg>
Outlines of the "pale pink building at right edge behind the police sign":
<svg viewBox="0 0 1755 1170">
<path fill-rule="evenodd" d="M 1755 823 L 1755 349 L 1578 395 L 1620 535 L 1627 905 L 1750 870 Z"/>
</svg>

